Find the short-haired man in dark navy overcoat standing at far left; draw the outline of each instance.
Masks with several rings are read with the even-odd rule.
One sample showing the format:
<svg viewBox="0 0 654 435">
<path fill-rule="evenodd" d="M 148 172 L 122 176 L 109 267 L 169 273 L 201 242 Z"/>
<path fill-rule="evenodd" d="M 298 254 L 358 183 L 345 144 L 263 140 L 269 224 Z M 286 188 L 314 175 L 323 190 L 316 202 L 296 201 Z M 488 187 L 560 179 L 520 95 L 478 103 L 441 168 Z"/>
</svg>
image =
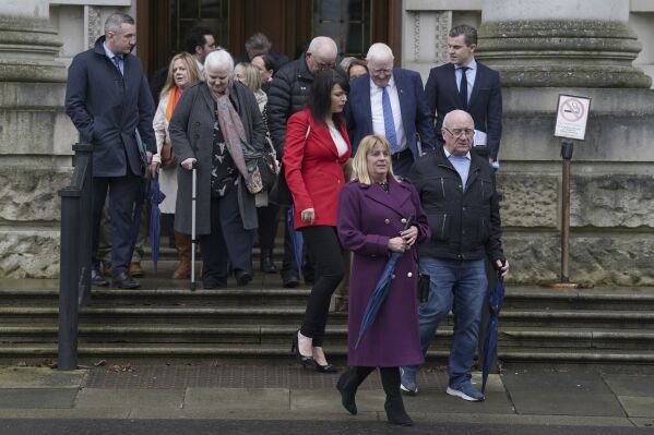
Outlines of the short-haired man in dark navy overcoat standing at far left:
<svg viewBox="0 0 654 435">
<path fill-rule="evenodd" d="M 80 140 L 94 146 L 92 282 L 107 285 L 99 271 L 97 245 L 109 190 L 112 283 L 129 289 L 140 286 L 128 271 L 134 201 L 144 166 L 148 165 L 151 173 L 158 169 L 157 164 L 150 164 L 156 153 L 152 129 L 155 107 L 141 61 L 130 55 L 135 43 L 134 19 L 111 14 L 105 22 L 105 35 L 95 41 L 95 47 L 73 58 L 66 89 L 66 112 L 78 128 Z M 146 153 L 139 149 L 136 130 Z"/>
</svg>

